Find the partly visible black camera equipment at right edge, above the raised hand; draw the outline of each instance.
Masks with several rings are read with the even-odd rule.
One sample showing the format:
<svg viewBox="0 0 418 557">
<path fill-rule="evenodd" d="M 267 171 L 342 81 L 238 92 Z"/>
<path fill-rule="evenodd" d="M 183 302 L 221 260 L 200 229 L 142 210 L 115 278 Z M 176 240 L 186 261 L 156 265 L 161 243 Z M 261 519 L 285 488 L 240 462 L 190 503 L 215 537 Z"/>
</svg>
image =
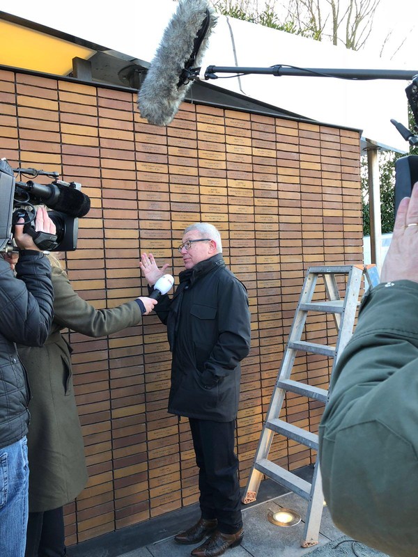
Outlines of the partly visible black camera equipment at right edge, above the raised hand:
<svg viewBox="0 0 418 557">
<path fill-rule="evenodd" d="M 415 126 L 411 132 L 402 124 L 391 120 L 396 130 L 401 134 L 405 141 L 408 141 L 411 146 L 418 145 L 418 75 L 412 79 L 412 83 L 405 89 L 408 103 L 414 116 Z M 401 157 L 395 162 L 395 214 L 398 211 L 399 203 L 404 197 L 410 197 L 412 187 L 415 182 L 418 182 L 418 156 L 408 155 Z"/>
</svg>

